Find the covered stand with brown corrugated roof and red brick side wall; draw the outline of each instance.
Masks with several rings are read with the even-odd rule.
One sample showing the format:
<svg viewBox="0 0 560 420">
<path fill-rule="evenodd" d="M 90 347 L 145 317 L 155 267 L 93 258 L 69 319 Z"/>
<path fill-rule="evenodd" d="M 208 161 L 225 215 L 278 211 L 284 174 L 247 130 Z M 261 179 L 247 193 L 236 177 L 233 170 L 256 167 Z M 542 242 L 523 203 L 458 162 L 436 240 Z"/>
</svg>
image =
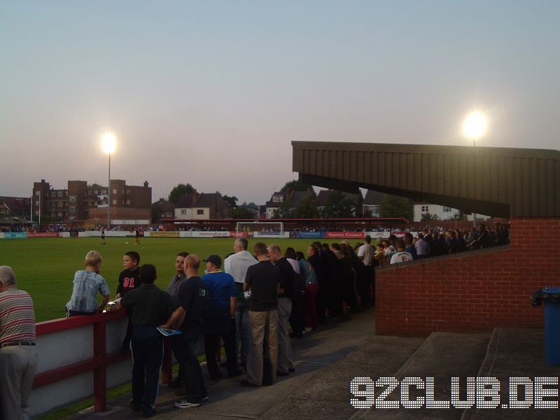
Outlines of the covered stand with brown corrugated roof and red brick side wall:
<svg viewBox="0 0 560 420">
<path fill-rule="evenodd" d="M 368 188 L 510 219 L 510 245 L 377 271 L 376 333 L 542 327 L 528 297 L 560 286 L 560 151 L 293 141 L 315 186 Z"/>
</svg>

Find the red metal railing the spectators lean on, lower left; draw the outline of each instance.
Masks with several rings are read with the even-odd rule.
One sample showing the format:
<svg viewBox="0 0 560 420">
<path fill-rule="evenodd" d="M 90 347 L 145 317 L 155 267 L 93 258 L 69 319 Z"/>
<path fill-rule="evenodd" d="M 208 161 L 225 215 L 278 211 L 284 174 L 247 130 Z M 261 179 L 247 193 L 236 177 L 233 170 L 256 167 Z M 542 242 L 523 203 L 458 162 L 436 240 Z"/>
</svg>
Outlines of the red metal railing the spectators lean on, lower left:
<svg viewBox="0 0 560 420">
<path fill-rule="evenodd" d="M 93 371 L 94 410 L 105 410 L 107 405 L 107 367 L 113 363 L 130 358 L 130 351 L 106 353 L 106 324 L 124 316 L 126 316 L 125 310 L 92 316 L 72 316 L 71 318 L 60 318 L 36 323 L 35 328 L 38 336 L 93 325 L 93 357 L 70 365 L 57 367 L 57 369 L 49 370 L 48 372 L 36 374 L 33 387 L 38 388 L 78 374 Z M 163 382 L 169 384 L 172 380 L 172 375 L 172 351 L 169 340 L 165 339 L 162 364 Z"/>
</svg>

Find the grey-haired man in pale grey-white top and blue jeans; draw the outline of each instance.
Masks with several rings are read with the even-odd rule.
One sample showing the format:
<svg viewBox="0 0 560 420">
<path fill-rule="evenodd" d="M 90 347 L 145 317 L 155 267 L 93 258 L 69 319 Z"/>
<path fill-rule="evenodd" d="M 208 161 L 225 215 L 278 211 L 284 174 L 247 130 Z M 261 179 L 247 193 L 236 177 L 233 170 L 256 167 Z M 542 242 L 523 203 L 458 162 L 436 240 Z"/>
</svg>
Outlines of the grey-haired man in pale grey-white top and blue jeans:
<svg viewBox="0 0 560 420">
<path fill-rule="evenodd" d="M 251 349 L 251 328 L 249 325 L 249 305 L 243 293 L 243 283 L 248 267 L 255 265 L 258 260 L 247 251 L 248 241 L 245 238 L 235 239 L 233 250 L 235 253 L 224 260 L 224 271 L 235 279 L 237 288 L 237 306 L 235 308 L 236 343 L 241 340 L 241 363 L 246 367 L 247 357 Z"/>
</svg>

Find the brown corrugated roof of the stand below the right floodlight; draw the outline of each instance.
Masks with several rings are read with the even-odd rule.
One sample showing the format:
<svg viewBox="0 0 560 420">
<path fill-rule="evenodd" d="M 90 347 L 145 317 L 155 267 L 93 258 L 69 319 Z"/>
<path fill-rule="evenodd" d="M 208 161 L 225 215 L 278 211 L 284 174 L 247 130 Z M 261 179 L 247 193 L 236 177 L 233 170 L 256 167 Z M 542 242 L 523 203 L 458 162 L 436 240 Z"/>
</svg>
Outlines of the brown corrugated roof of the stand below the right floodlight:
<svg viewBox="0 0 560 420">
<path fill-rule="evenodd" d="M 293 141 L 315 186 L 358 187 L 489 216 L 560 216 L 560 151 Z"/>
</svg>

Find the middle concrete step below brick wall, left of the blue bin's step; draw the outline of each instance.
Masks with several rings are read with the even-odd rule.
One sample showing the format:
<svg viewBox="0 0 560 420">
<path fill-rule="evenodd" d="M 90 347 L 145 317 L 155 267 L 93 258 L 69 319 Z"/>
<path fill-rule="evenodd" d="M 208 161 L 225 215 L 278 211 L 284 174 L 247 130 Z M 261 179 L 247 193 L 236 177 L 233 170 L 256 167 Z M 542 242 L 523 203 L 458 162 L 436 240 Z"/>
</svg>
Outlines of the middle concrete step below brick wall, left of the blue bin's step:
<svg viewBox="0 0 560 420">
<path fill-rule="evenodd" d="M 405 377 L 419 377 L 426 383 L 426 377 L 433 377 L 433 400 L 451 400 L 451 377 L 458 377 L 461 399 L 466 395 L 466 378 L 476 377 L 480 365 L 486 355 L 490 340 L 490 333 L 461 334 L 451 332 L 433 332 L 421 344 L 414 354 L 404 363 L 398 371 L 389 376 L 395 377 L 399 382 Z M 376 398 L 382 388 L 375 388 Z M 410 399 L 425 396 L 426 390 L 415 391 L 411 388 Z M 387 395 L 388 401 L 401 400 L 400 386 Z M 421 409 L 400 408 L 384 409 L 372 407 L 360 410 L 351 419 L 456 419 L 460 420 L 463 409 Z"/>
</svg>

